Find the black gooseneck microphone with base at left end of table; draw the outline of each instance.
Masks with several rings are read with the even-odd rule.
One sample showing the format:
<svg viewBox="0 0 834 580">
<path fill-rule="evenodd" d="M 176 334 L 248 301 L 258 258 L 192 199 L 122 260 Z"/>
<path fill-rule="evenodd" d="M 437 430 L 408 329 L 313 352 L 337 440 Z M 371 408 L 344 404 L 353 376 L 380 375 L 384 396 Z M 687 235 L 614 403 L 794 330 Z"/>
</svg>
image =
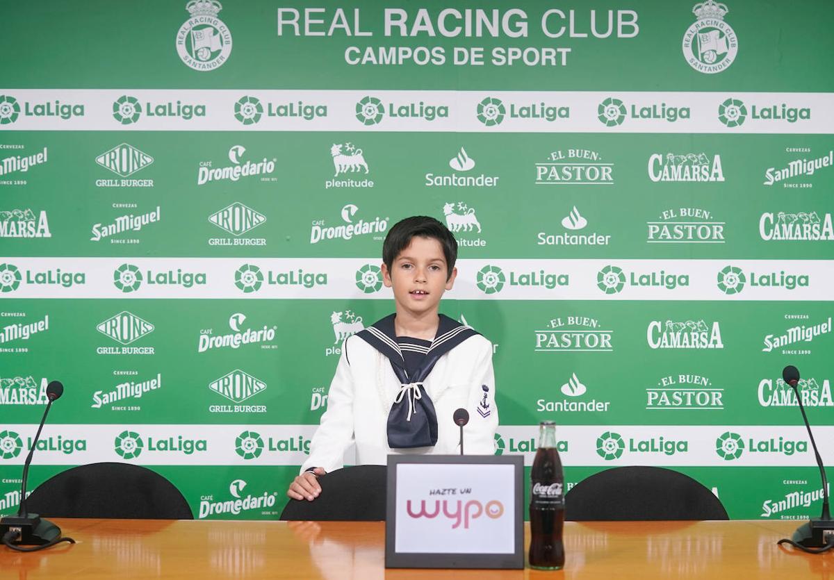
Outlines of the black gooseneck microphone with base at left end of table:
<svg viewBox="0 0 834 580">
<path fill-rule="evenodd" d="M 29 513 L 26 509 L 26 483 L 29 476 L 29 464 L 32 463 L 32 456 L 38 446 L 38 438 L 41 436 L 43 424 L 47 421 L 47 414 L 52 408 L 54 401 L 63 395 L 63 384 L 60 381 L 52 381 L 47 385 L 47 408 L 43 410 L 43 418 L 38 426 L 38 433 L 32 440 L 32 447 L 29 449 L 26 463 L 23 464 L 23 478 L 20 486 L 20 507 L 18 515 L 3 517 L 0 519 L 0 536 L 6 546 L 19 552 L 33 552 L 43 547 L 50 547 L 58 542 L 75 543 L 71 537 L 61 537 L 61 528 L 46 519 L 41 519 L 37 513 Z M 36 547 L 22 548 L 18 544 L 33 545 Z"/>
</svg>

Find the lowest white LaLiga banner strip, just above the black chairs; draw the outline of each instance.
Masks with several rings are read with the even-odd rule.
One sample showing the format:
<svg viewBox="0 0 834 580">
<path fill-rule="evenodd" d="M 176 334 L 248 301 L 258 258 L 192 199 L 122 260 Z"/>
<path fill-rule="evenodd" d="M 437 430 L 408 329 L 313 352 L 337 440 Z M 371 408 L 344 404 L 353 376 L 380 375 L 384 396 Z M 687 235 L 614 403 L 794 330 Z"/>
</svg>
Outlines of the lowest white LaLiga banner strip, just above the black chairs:
<svg viewBox="0 0 834 580">
<path fill-rule="evenodd" d="M 37 425 L 0 425 L 0 466 L 22 465 Z M 39 465 L 125 461 L 138 465 L 301 465 L 315 425 L 58 425 L 43 428 Z M 814 428 L 820 442 L 834 426 Z M 535 458 L 536 425 L 498 428 L 501 454 Z M 576 467 L 811 467 L 814 453 L 796 425 L 566 425 L 558 428 L 562 463 Z M 834 448 L 821 446 L 824 463 Z M 350 457 L 350 454 L 348 454 Z"/>
</svg>

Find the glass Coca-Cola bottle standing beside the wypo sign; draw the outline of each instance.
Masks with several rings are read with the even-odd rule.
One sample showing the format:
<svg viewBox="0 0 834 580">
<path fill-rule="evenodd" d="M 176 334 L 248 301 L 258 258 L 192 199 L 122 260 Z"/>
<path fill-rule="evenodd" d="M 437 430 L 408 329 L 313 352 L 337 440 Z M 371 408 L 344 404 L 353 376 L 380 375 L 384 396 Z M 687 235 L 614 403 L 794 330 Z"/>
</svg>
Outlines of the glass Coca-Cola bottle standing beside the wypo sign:
<svg viewBox="0 0 834 580">
<path fill-rule="evenodd" d="M 565 566 L 565 475 L 556 451 L 556 424 L 542 421 L 539 449 L 530 471 L 530 567 L 560 570 Z"/>
</svg>

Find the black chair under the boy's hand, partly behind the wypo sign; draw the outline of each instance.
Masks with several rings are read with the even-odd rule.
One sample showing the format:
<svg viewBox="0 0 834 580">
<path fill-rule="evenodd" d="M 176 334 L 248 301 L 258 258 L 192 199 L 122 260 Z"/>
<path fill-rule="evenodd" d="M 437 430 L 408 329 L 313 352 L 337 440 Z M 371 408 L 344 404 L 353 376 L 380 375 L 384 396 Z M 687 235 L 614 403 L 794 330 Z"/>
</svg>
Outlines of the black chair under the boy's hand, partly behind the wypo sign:
<svg viewBox="0 0 834 580">
<path fill-rule="evenodd" d="M 290 499 L 282 520 L 379 522 L 385 519 L 387 469 L 357 465 L 319 478 L 321 494 L 312 502 Z"/>
</svg>

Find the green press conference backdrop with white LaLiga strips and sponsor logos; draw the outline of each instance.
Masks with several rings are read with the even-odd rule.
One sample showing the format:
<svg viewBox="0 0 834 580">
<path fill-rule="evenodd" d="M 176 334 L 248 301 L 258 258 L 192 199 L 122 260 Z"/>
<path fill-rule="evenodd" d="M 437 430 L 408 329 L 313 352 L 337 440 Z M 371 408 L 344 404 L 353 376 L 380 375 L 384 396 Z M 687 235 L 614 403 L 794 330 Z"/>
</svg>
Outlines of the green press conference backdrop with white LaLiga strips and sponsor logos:
<svg viewBox="0 0 834 580">
<path fill-rule="evenodd" d="M 800 518 L 834 463 L 830 2 L 17 2 L 0 47 L 0 512 L 128 462 L 276 518 L 382 240 L 445 222 L 495 453 Z M 489 404 L 471 421 L 495 413 Z"/>
</svg>

